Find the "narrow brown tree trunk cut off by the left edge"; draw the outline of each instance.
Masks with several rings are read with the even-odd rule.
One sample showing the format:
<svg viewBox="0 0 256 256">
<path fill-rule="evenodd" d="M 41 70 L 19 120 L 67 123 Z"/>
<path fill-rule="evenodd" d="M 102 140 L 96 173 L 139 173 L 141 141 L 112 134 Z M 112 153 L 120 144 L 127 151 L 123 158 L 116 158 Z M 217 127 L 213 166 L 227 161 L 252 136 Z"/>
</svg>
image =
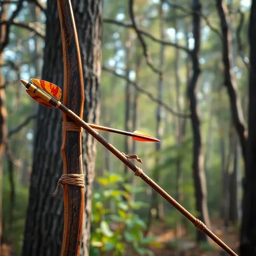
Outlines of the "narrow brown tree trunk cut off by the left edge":
<svg viewBox="0 0 256 256">
<path fill-rule="evenodd" d="M 7 19 L 7 4 L 4 4 L 0 12 L 0 22 Z M 6 25 L 0 25 L 0 44 L 3 43 L 6 34 Z M 2 49 L 2 47 L 1 47 Z M 3 49 L 4 50 L 4 49 Z M 0 65 L 3 64 L 3 50 L 0 52 Z M 0 86 L 4 85 L 4 76 L 2 68 L 0 68 Z M 7 140 L 7 111 L 5 110 L 5 92 L 4 88 L 0 88 L 0 253 L 2 241 L 2 177 L 3 177 L 3 153 Z"/>
</svg>

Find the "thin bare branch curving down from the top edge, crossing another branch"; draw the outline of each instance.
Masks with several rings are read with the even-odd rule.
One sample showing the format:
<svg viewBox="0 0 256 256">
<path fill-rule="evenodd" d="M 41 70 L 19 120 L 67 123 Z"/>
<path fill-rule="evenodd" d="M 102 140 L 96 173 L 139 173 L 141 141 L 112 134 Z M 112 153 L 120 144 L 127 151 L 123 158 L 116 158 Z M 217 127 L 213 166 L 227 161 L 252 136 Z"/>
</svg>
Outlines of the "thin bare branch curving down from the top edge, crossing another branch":
<svg viewBox="0 0 256 256">
<path fill-rule="evenodd" d="M 157 73 L 157 74 L 159 74 L 159 75 L 162 75 L 162 72 L 159 71 L 157 68 L 155 68 L 155 67 L 153 66 L 153 61 L 152 61 L 151 56 L 150 56 L 150 54 L 149 54 L 149 52 L 148 52 L 148 47 L 146 46 L 146 43 L 145 43 L 145 41 L 144 41 L 144 39 L 143 39 L 142 34 L 140 33 L 140 31 L 139 31 L 138 28 L 137 28 L 137 24 L 136 24 L 136 22 L 135 22 L 135 16 L 134 16 L 134 14 L 133 14 L 133 3 L 134 3 L 133 0 L 130 0 L 130 2 L 129 2 L 129 14 L 130 14 L 130 19 L 131 19 L 131 22 L 132 22 L 132 27 L 133 27 L 133 29 L 136 31 L 136 34 L 137 34 L 137 36 L 138 36 L 138 39 L 139 39 L 140 43 L 142 44 L 143 54 L 144 54 L 144 56 L 145 56 L 145 58 L 146 58 L 146 63 L 147 63 L 148 66 L 152 69 L 153 72 L 155 72 L 155 73 Z"/>
</svg>

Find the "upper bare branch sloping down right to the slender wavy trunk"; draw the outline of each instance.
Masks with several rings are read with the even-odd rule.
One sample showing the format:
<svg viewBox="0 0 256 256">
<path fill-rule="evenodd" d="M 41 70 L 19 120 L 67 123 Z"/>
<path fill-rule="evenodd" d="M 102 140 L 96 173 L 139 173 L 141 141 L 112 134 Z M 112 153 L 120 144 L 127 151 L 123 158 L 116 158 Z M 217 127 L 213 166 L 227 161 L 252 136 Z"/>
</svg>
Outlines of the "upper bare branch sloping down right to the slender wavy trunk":
<svg viewBox="0 0 256 256">
<path fill-rule="evenodd" d="M 104 18 L 103 20 L 105 23 L 109 23 L 109 24 L 116 24 L 116 25 L 119 25 L 120 27 L 125 27 L 125 28 L 133 28 L 133 25 L 129 22 L 119 22 L 119 21 L 116 21 L 116 20 L 113 20 L 111 18 Z M 155 36 L 151 35 L 150 33 L 148 33 L 147 31 L 143 30 L 143 29 L 139 29 L 137 28 L 137 30 L 139 31 L 140 34 L 148 37 L 149 39 L 151 39 L 152 41 L 154 42 L 157 42 L 157 43 L 161 43 L 163 44 L 164 46 L 172 46 L 172 47 L 176 47 L 177 49 L 181 49 L 181 50 L 184 50 L 185 52 L 187 52 L 189 55 L 191 55 L 191 51 L 185 47 L 185 46 L 181 46 L 180 44 L 177 44 L 177 43 L 172 43 L 170 41 L 165 41 L 165 40 L 161 40 L 161 39 L 157 39 Z"/>
</svg>

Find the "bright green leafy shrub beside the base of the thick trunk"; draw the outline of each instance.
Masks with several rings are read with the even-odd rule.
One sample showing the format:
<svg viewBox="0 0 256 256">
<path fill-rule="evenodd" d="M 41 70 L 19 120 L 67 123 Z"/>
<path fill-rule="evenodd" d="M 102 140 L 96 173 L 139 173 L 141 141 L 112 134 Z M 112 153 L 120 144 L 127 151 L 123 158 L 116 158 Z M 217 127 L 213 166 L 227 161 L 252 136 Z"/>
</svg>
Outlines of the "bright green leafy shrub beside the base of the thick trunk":
<svg viewBox="0 0 256 256">
<path fill-rule="evenodd" d="M 97 181 L 101 188 L 94 193 L 92 201 L 90 255 L 103 255 L 109 251 L 113 255 L 125 255 L 127 251 L 153 255 L 146 247 L 157 246 L 155 238 L 144 238 L 146 224 L 134 213 L 148 207 L 148 204 L 131 200 L 131 193 L 138 193 L 142 189 L 132 189 L 131 184 L 123 183 L 123 176 L 107 171 Z M 120 188 L 120 184 L 123 184 L 123 188 Z"/>
</svg>

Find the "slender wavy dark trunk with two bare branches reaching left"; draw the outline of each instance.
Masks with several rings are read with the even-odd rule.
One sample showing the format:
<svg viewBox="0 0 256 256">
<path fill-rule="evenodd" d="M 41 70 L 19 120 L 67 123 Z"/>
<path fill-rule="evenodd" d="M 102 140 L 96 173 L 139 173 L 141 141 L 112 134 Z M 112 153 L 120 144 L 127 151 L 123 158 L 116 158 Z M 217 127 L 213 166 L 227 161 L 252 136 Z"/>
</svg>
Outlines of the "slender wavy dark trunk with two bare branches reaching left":
<svg viewBox="0 0 256 256">
<path fill-rule="evenodd" d="M 196 86 L 198 84 L 198 79 L 200 76 L 200 65 L 199 65 L 199 51 L 200 51 L 200 37 L 201 37 L 201 27 L 200 27 L 200 16 L 201 3 L 199 0 L 193 0 L 193 34 L 195 40 L 195 46 L 192 54 L 192 64 L 193 64 L 193 75 L 190 80 L 188 87 L 188 97 L 190 100 L 190 113 L 191 113 L 191 124 L 193 129 L 193 178 L 195 186 L 195 199 L 196 199 L 196 211 L 198 213 L 197 217 L 200 219 L 209 229 L 210 220 L 207 207 L 207 186 L 206 186 L 206 176 L 204 173 L 203 164 L 203 150 L 202 150 L 202 135 L 199 112 L 197 109 L 196 100 Z M 197 241 L 207 240 L 206 234 L 201 231 L 197 231 Z"/>
</svg>

